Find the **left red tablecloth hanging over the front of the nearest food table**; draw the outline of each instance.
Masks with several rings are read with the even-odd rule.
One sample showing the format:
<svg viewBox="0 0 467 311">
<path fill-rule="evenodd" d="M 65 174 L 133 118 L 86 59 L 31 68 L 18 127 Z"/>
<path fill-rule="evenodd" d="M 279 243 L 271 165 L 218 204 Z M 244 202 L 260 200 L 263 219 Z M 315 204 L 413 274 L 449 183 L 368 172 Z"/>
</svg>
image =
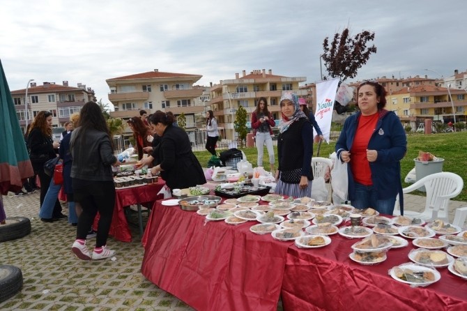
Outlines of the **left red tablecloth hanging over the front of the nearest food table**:
<svg viewBox="0 0 467 311">
<path fill-rule="evenodd" d="M 256 222 L 254 222 L 256 223 Z M 141 273 L 197 310 L 276 310 L 291 243 L 156 202 Z"/>
</svg>

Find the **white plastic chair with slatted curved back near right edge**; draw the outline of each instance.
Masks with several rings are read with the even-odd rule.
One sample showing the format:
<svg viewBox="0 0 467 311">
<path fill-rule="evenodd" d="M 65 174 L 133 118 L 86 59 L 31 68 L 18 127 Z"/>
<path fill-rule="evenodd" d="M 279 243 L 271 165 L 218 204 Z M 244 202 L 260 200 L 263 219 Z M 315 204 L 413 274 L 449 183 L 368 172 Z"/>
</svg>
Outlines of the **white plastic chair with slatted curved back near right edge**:
<svg viewBox="0 0 467 311">
<path fill-rule="evenodd" d="M 464 187 L 461 176 L 450 172 L 430 174 L 404 188 L 402 192 L 412 192 L 423 186 L 427 191 L 424 211 L 422 213 L 404 211 L 404 215 L 423 220 L 441 219 L 449 222 L 449 200 L 459 195 Z M 393 214 L 400 215 L 399 197 L 396 199 Z"/>
</svg>

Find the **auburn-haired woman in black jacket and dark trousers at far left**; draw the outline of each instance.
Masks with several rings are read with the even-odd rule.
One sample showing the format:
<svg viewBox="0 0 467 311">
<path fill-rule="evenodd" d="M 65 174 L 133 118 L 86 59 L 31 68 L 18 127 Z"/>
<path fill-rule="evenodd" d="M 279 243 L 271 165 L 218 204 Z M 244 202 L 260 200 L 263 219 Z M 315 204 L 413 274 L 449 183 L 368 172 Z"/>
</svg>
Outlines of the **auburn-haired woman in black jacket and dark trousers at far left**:
<svg viewBox="0 0 467 311">
<path fill-rule="evenodd" d="M 60 146 L 59 142 L 52 140 L 51 112 L 41 111 L 34 118 L 31 128 L 29 128 L 28 144 L 34 173 L 39 175 L 40 206 L 42 206 L 45 195 L 49 190 L 50 181 L 52 181 L 52 177 L 44 172 L 44 163 L 56 157 L 54 149 L 58 149 Z M 41 218 L 41 220 L 52 222 L 57 218 L 66 218 L 66 215 L 61 213 L 61 205 L 58 198 L 55 202 L 52 218 Z"/>
</svg>

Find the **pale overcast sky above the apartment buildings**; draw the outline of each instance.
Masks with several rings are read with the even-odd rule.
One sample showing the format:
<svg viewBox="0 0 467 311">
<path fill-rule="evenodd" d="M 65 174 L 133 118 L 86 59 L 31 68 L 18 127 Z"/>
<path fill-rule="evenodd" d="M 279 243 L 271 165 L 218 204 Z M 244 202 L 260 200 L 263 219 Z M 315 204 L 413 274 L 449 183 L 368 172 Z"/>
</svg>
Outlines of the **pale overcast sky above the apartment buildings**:
<svg viewBox="0 0 467 311">
<path fill-rule="evenodd" d="M 109 103 L 105 79 L 158 68 L 197 84 L 272 69 L 320 80 L 323 40 L 350 26 L 376 33 L 356 79 L 467 69 L 467 1 L 113 0 L 2 1 L 0 59 L 10 90 L 86 84 Z M 441 75 L 424 69 L 436 70 Z M 323 74 L 326 69 L 323 66 Z"/>
</svg>

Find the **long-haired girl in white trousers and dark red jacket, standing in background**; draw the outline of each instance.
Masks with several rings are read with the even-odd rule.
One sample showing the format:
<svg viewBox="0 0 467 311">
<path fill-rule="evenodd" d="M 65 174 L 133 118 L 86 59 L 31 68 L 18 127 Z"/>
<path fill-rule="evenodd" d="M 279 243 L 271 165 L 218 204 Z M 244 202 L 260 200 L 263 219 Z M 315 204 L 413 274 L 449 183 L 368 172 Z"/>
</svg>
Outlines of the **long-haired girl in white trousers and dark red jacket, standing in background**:
<svg viewBox="0 0 467 311">
<path fill-rule="evenodd" d="M 252 113 L 252 128 L 255 131 L 255 137 L 258 149 L 258 166 L 263 166 L 264 144 L 268 149 L 270 171 L 274 173 L 274 147 L 273 147 L 273 130 L 275 126 L 273 114 L 268 111 L 268 100 L 260 97 L 258 100 L 257 109 Z"/>
</svg>

